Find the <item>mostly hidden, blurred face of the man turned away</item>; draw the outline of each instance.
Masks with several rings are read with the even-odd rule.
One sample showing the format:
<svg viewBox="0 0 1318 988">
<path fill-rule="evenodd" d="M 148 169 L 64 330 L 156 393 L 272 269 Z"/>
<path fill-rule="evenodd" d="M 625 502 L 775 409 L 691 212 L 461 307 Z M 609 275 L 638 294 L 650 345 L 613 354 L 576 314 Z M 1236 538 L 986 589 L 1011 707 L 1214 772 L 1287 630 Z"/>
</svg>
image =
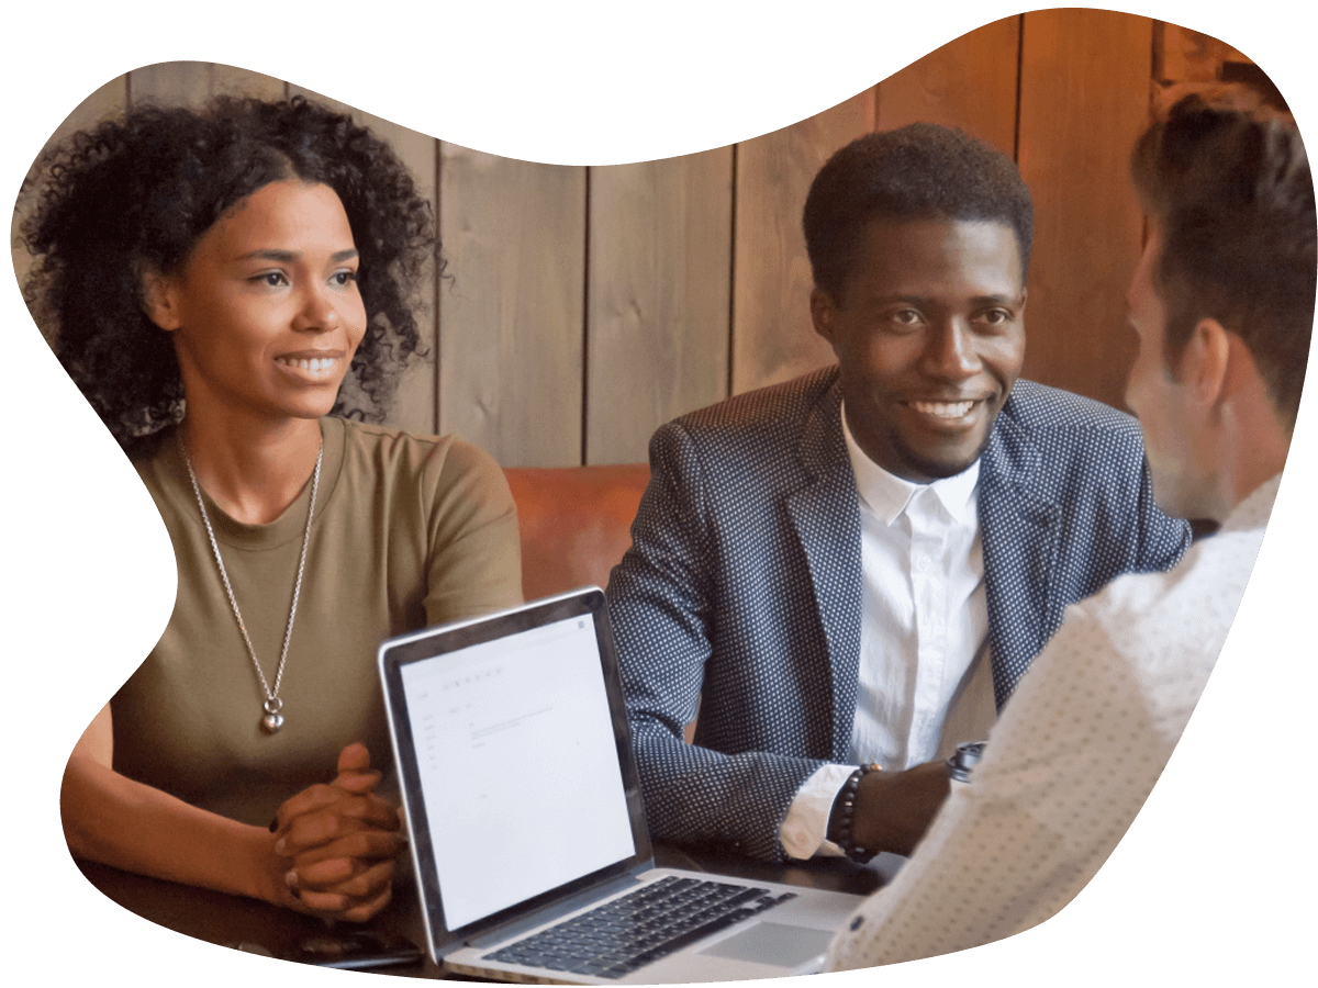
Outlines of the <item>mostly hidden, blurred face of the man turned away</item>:
<svg viewBox="0 0 1318 988">
<path fill-rule="evenodd" d="M 1194 494 L 1205 487 L 1189 443 L 1186 389 L 1166 365 L 1166 308 L 1155 286 L 1161 253 L 1162 234 L 1155 225 L 1126 295 L 1127 320 L 1140 344 L 1126 382 L 1126 403 L 1139 416 L 1144 432 L 1157 506 L 1173 518 L 1194 518 Z"/>
</svg>

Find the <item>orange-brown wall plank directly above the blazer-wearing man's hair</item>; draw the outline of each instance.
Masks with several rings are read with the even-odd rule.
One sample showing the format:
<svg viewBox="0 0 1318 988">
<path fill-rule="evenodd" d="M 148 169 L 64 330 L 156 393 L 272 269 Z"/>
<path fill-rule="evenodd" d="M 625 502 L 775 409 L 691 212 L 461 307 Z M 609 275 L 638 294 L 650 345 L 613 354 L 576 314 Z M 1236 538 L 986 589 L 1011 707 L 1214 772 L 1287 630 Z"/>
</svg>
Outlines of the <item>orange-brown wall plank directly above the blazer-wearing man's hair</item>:
<svg viewBox="0 0 1318 988">
<path fill-rule="evenodd" d="M 878 130 L 956 126 L 1016 157 L 1020 16 L 962 34 L 879 83 Z"/>
</svg>

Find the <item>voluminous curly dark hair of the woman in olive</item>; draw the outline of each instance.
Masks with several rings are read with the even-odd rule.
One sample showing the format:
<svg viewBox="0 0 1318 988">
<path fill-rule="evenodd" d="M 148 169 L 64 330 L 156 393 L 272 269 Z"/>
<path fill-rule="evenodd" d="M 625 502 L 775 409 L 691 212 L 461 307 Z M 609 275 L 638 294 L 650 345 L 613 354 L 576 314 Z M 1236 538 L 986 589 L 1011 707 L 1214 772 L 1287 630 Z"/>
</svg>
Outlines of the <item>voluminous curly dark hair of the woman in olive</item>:
<svg viewBox="0 0 1318 988">
<path fill-rule="evenodd" d="M 220 217 L 290 178 L 330 186 L 348 215 L 368 324 L 333 411 L 378 422 L 398 371 L 423 353 L 411 303 L 436 244 L 434 209 L 389 145 L 301 96 L 221 96 L 203 109 L 136 108 L 41 162 L 21 227 L 38 258 L 24 298 L 125 449 L 182 415 L 178 360 L 142 308 L 144 273 L 179 271 Z"/>
</svg>

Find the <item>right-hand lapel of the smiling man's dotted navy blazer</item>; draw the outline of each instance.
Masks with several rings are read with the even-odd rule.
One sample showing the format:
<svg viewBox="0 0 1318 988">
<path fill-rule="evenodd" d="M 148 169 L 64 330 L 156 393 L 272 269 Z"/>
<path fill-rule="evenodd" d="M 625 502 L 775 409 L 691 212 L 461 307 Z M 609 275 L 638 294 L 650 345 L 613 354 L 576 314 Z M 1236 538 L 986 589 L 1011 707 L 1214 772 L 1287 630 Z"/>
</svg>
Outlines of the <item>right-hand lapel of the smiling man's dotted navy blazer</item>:
<svg viewBox="0 0 1318 988">
<path fill-rule="evenodd" d="M 1044 645 L 1043 630 L 1061 544 L 1061 505 L 1033 482 L 1043 456 L 1011 414 L 1008 400 L 985 451 L 979 480 L 979 532 L 988 602 L 998 711 Z"/>
</svg>

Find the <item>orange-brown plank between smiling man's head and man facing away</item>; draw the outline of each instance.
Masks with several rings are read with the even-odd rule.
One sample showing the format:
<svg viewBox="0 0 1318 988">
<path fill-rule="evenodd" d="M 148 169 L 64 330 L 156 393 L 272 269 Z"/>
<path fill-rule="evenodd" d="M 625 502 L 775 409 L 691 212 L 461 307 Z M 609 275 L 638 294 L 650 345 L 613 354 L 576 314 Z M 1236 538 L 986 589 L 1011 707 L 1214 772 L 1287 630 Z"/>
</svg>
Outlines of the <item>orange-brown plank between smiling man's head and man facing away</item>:
<svg viewBox="0 0 1318 988">
<path fill-rule="evenodd" d="M 1024 375 L 1123 406 L 1126 288 L 1143 221 L 1127 155 L 1144 124 L 1152 21 L 1094 9 L 1025 14 L 1020 167 L 1035 195 Z"/>
</svg>

